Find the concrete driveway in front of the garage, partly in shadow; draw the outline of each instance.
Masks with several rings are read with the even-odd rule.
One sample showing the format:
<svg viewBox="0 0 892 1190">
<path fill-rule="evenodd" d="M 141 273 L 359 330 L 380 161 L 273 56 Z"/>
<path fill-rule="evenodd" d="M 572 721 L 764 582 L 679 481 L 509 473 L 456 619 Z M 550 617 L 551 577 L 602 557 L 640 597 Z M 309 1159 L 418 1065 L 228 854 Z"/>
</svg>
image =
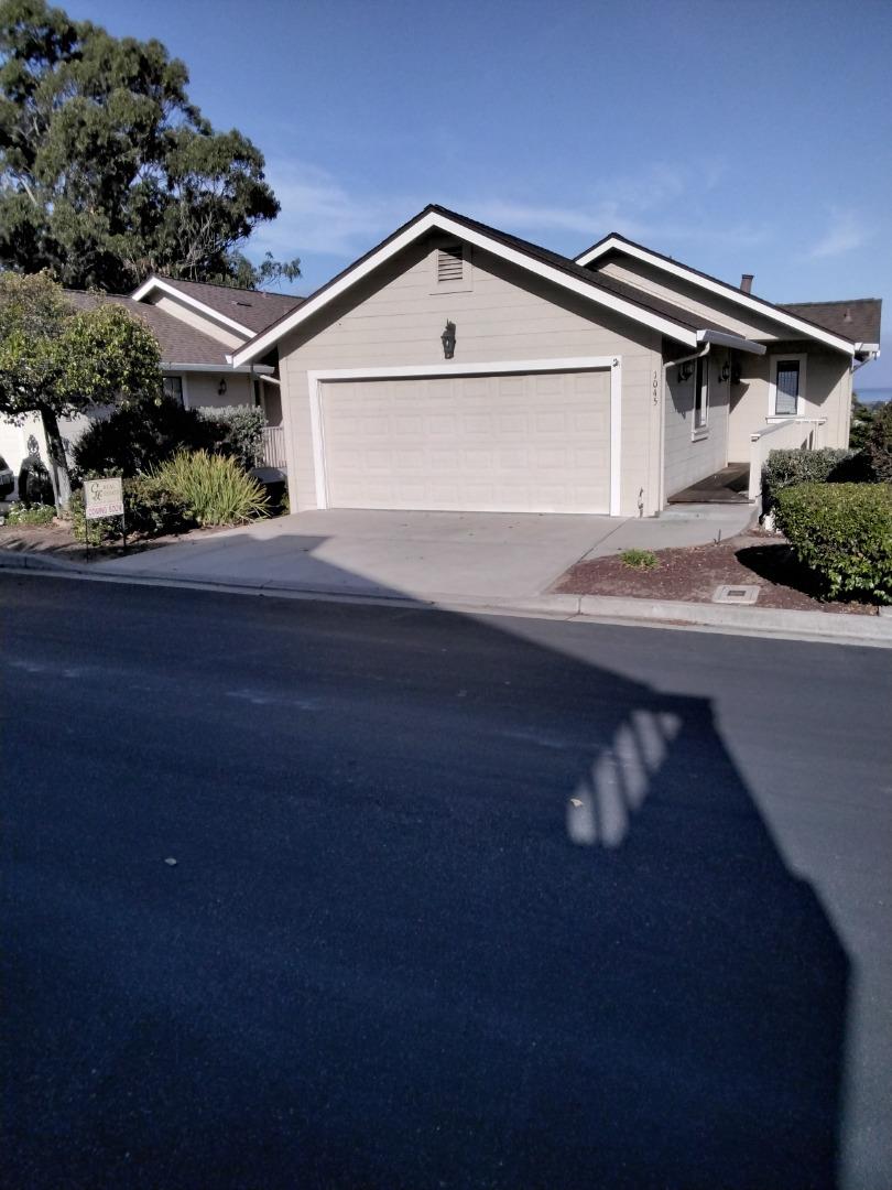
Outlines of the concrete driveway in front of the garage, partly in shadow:
<svg viewBox="0 0 892 1190">
<path fill-rule="evenodd" d="M 96 570 L 357 595 L 521 599 L 622 518 L 325 509 L 191 538 Z"/>
</svg>

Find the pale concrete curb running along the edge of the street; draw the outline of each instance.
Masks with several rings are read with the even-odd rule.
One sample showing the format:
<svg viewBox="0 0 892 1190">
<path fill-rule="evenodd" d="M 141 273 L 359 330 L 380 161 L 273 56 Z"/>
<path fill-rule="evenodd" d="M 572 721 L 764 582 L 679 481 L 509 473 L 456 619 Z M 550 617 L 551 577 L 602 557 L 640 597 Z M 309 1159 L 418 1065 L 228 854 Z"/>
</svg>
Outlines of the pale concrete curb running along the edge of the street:
<svg viewBox="0 0 892 1190">
<path fill-rule="evenodd" d="M 152 572 L 101 570 L 102 563 L 84 565 L 30 551 L 0 550 L 0 569 L 30 570 L 57 577 L 89 578 L 94 582 L 134 583 L 144 587 L 176 587 L 231 595 L 264 595 L 337 603 L 366 603 L 480 615 L 519 615 L 602 624 L 648 625 L 651 627 L 699 628 L 759 637 L 779 637 L 860 644 L 892 649 L 892 615 L 846 615 L 829 612 L 790 612 L 766 607 L 729 607 L 717 603 L 687 603 L 680 600 L 628 599 L 616 595 L 532 595 L 523 599 L 494 599 L 486 595 L 432 594 L 425 599 L 402 594 L 289 587 L 282 580 L 266 583 L 234 583 L 215 578 L 193 578 Z"/>
</svg>

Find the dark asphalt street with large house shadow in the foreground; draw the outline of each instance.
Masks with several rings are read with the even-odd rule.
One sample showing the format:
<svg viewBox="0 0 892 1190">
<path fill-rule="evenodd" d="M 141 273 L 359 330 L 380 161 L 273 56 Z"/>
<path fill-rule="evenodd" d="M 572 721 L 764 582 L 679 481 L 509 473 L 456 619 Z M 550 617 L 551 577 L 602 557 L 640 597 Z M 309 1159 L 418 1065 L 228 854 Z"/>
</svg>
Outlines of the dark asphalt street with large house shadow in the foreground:
<svg viewBox="0 0 892 1190">
<path fill-rule="evenodd" d="M 892 653 L 0 575 L 4 1183 L 892 1185 Z"/>
</svg>

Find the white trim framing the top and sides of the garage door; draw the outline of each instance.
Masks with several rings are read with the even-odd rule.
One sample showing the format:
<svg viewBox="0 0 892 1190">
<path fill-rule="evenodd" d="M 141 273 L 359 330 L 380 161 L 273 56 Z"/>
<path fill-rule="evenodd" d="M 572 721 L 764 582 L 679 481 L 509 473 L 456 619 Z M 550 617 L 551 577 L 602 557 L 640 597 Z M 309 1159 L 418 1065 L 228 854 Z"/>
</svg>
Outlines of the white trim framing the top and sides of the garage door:
<svg viewBox="0 0 892 1190">
<path fill-rule="evenodd" d="M 322 432 L 322 384 L 331 380 L 441 378 L 491 376 L 510 372 L 610 371 L 610 515 L 620 515 L 622 455 L 622 356 L 578 356 L 567 359 L 500 359 L 492 363 L 432 364 L 395 368 L 327 368 L 307 372 L 309 415 L 313 428 L 316 507 L 328 507 L 328 483 Z"/>
</svg>

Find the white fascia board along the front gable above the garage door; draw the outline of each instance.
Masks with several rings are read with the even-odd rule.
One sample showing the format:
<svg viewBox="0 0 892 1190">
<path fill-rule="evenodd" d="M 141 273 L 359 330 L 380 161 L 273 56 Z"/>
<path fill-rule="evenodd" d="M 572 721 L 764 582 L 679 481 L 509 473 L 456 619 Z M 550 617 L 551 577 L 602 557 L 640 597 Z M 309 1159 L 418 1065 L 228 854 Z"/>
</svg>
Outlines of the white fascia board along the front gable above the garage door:
<svg viewBox="0 0 892 1190">
<path fill-rule="evenodd" d="M 278 343 L 285 334 L 290 334 L 291 331 L 299 327 L 302 322 L 306 322 L 307 319 L 312 318 L 315 313 L 327 306 L 328 302 L 334 301 L 335 298 L 339 298 L 343 293 L 345 293 L 345 290 L 350 289 L 358 281 L 362 281 L 363 277 L 368 276 L 373 269 L 377 269 L 385 261 L 396 256 L 397 252 L 402 252 L 403 249 L 408 248 L 422 236 L 426 236 L 429 231 L 442 231 L 447 234 L 454 236 L 456 239 L 466 240 L 469 244 L 473 244 L 476 248 L 483 249 L 485 252 L 491 252 L 492 256 L 498 256 L 503 261 L 509 261 L 511 264 L 516 264 L 527 273 L 534 273 L 538 276 L 544 277 L 546 281 L 552 281 L 563 289 L 570 289 L 571 292 L 580 294 L 583 298 L 588 298 L 590 301 L 593 301 L 599 306 L 607 306 L 609 309 L 615 311 L 617 314 L 624 314 L 635 322 L 643 322 L 645 326 L 649 326 L 652 330 L 659 331 L 661 334 L 666 334 L 670 338 L 676 339 L 678 343 L 684 343 L 687 346 L 696 346 L 697 344 L 696 332 L 689 327 L 673 322 L 671 319 L 661 318 L 659 314 L 643 309 L 642 307 L 634 305 L 634 302 L 624 301 L 615 294 L 607 293 L 603 289 L 597 289 L 595 286 L 591 286 L 585 281 L 569 276 L 569 274 L 564 273 L 561 269 L 557 269 L 551 264 L 545 264 L 541 261 L 535 261 L 524 252 L 520 252 L 514 248 L 501 244 L 498 240 L 491 239 L 482 232 L 475 231 L 471 227 L 465 227 L 463 224 L 456 223 L 454 220 L 447 219 L 445 215 L 432 211 L 429 214 L 425 215 L 423 219 L 420 219 L 410 227 L 407 227 L 401 236 L 397 236 L 368 259 L 352 268 L 339 281 L 322 290 L 322 293 L 320 293 L 316 298 L 309 298 L 301 306 L 299 306 L 293 314 L 289 314 L 288 318 L 283 319 L 283 321 L 270 327 L 268 331 L 262 331 L 257 338 L 251 340 L 251 343 L 246 343 L 244 347 L 239 347 L 234 351 L 232 353 L 233 361 L 238 364 L 245 364 L 256 359 L 257 356 L 265 355 L 270 347 Z"/>
</svg>

